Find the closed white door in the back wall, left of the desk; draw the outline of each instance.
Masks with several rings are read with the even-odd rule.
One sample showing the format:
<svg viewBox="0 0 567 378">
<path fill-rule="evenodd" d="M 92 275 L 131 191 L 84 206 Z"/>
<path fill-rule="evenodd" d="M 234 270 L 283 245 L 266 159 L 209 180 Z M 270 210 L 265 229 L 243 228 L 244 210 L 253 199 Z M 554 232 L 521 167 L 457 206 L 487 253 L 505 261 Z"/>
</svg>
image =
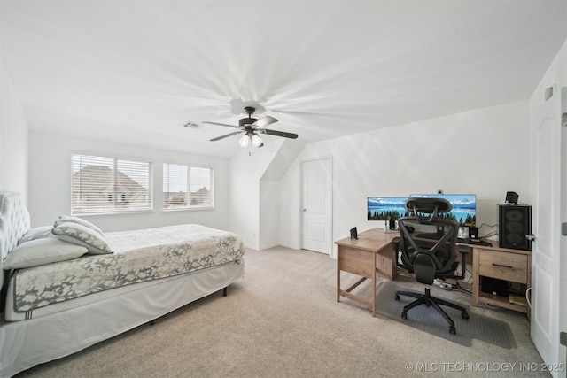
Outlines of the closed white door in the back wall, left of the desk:
<svg viewBox="0 0 567 378">
<path fill-rule="evenodd" d="M 330 255 L 332 167 L 330 158 L 301 163 L 302 248 Z"/>
</svg>

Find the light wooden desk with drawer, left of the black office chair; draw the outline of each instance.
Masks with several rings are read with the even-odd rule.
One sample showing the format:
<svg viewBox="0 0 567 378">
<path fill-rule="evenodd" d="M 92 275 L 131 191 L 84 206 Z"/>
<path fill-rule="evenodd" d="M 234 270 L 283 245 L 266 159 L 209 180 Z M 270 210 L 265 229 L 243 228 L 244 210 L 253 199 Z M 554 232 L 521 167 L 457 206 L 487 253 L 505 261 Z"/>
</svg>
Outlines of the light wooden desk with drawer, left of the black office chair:
<svg viewBox="0 0 567 378">
<path fill-rule="evenodd" d="M 377 228 L 369 229 L 358 239 L 349 237 L 335 242 L 337 244 L 337 302 L 340 296 L 369 305 L 372 316 L 376 316 L 376 274 L 388 280 L 396 277 L 396 263 L 392 239 L 399 233 L 384 233 Z M 348 289 L 340 288 L 340 272 L 360 275 L 361 280 Z M 365 280 L 372 280 L 372 298 L 354 295 L 351 291 Z"/>
</svg>

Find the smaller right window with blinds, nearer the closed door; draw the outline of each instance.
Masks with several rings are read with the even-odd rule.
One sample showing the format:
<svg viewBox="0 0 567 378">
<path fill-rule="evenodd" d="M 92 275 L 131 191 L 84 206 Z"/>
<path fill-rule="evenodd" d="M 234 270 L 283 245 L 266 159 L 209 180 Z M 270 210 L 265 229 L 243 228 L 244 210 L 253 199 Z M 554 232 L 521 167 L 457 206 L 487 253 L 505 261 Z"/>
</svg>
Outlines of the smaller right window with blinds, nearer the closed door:
<svg viewBox="0 0 567 378">
<path fill-rule="evenodd" d="M 213 207 L 213 170 L 179 164 L 163 165 L 163 208 Z"/>
</svg>

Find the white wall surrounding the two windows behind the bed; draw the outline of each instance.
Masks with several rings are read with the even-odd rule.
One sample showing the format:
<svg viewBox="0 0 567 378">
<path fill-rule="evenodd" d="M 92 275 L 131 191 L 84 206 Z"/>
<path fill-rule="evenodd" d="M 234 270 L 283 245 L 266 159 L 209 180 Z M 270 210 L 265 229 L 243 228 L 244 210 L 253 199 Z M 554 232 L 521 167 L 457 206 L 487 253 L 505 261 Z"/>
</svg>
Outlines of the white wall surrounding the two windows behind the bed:
<svg viewBox="0 0 567 378">
<path fill-rule="evenodd" d="M 89 220 L 105 232 L 152 228 L 182 223 L 199 223 L 212 228 L 229 228 L 228 160 L 195 156 L 168 150 L 152 150 L 128 144 L 107 143 L 69 135 L 30 132 L 29 211 L 32 227 L 52 224 L 71 212 L 71 154 L 74 151 L 143 158 L 153 162 L 154 212 L 93 215 Z M 214 169 L 214 210 L 162 212 L 162 165 L 179 163 Z M 86 217 L 85 217 L 86 218 Z"/>
</svg>

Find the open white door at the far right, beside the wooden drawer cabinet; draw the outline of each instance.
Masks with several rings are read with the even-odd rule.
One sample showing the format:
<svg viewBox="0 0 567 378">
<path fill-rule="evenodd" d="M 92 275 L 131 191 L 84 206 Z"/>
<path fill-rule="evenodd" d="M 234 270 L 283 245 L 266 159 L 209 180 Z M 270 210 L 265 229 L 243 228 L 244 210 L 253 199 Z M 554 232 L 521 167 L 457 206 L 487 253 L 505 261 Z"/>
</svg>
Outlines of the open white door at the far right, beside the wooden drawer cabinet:
<svg viewBox="0 0 567 378">
<path fill-rule="evenodd" d="M 532 109 L 531 149 L 535 161 L 531 179 L 532 243 L 532 341 L 548 364 L 560 359 L 560 314 L 567 293 L 561 275 L 562 126 L 561 92 L 554 88 L 547 101 L 541 94 L 538 109 Z M 564 313 L 563 313 L 564 316 Z M 564 354 L 563 354 L 564 355 Z M 553 366 L 553 365 L 551 365 Z M 553 376 L 560 376 L 555 369 Z"/>
</svg>

